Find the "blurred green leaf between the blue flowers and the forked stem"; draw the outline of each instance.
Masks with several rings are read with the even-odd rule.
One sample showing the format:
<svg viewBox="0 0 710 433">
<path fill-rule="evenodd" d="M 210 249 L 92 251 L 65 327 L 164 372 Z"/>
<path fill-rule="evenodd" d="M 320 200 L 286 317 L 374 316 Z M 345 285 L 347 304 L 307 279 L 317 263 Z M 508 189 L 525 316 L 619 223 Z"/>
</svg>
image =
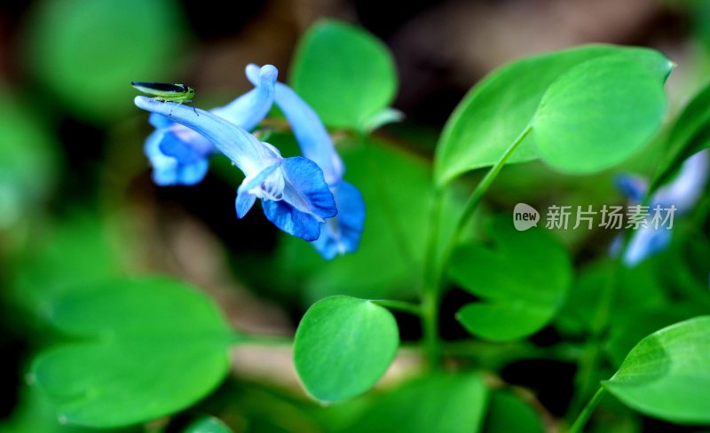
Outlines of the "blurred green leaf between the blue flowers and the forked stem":
<svg viewBox="0 0 710 433">
<path fill-rule="evenodd" d="M 311 302 L 327 295 L 411 296 L 422 278 L 433 199 L 430 167 L 416 155 L 379 141 L 338 146 L 347 165 L 345 178 L 359 188 L 367 209 L 359 249 L 327 263 L 307 242 L 282 236 L 275 260 L 280 274 L 289 276 L 282 287 L 293 287 L 296 281 L 294 289 L 305 290 Z M 441 218 L 445 240 L 461 203 L 455 193 L 448 199 Z"/>
</svg>

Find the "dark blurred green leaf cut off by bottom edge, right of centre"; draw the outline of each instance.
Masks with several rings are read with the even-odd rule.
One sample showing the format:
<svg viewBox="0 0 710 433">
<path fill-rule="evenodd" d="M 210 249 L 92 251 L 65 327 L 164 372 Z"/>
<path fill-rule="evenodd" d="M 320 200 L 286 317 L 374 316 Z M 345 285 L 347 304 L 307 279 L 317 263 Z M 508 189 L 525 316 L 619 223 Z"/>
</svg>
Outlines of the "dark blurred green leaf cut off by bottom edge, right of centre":
<svg viewBox="0 0 710 433">
<path fill-rule="evenodd" d="M 491 394 L 488 413 L 485 414 L 485 433 L 544 433 L 540 416 L 522 398 L 507 391 Z"/>
</svg>

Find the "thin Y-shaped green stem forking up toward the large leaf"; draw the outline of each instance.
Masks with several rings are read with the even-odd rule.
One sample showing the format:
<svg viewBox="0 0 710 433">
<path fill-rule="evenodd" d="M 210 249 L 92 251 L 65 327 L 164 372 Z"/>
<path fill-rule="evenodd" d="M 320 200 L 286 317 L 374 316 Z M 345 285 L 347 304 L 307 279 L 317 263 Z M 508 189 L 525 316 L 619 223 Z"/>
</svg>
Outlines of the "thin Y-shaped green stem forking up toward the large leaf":
<svg viewBox="0 0 710 433">
<path fill-rule="evenodd" d="M 459 216 L 459 221 L 454 229 L 454 234 L 448 240 L 444 254 L 441 260 L 438 260 L 438 235 L 439 235 L 439 220 L 441 218 L 442 204 L 444 201 L 444 193 L 442 188 L 437 188 L 434 191 L 434 202 L 431 205 L 430 214 L 430 232 L 427 241 L 426 262 L 424 272 L 424 286 L 422 288 L 422 328 L 424 332 L 424 348 L 427 354 L 427 360 L 431 368 L 438 368 L 441 358 L 441 348 L 438 337 L 438 309 L 441 302 L 441 290 L 444 284 L 444 270 L 448 264 L 454 248 L 461 239 L 461 234 L 464 232 L 466 225 L 469 223 L 470 216 L 477 209 L 488 188 L 493 184 L 493 180 L 501 172 L 506 161 L 510 158 L 517 146 L 525 141 L 525 138 L 533 131 L 533 127 L 528 125 L 517 138 L 508 146 L 505 152 L 501 155 L 498 161 L 493 164 L 493 167 L 488 170 L 485 177 L 478 183 L 476 189 L 471 193 L 469 201 Z"/>
</svg>

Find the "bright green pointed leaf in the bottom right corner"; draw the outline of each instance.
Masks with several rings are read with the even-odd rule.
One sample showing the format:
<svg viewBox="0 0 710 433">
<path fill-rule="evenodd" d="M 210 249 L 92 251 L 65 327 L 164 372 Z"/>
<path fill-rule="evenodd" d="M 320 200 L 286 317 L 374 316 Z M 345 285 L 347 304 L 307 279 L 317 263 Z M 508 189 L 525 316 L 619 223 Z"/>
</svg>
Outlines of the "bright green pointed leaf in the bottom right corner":
<svg viewBox="0 0 710 433">
<path fill-rule="evenodd" d="M 710 316 L 647 336 L 603 385 L 641 413 L 677 423 L 710 424 Z"/>
</svg>

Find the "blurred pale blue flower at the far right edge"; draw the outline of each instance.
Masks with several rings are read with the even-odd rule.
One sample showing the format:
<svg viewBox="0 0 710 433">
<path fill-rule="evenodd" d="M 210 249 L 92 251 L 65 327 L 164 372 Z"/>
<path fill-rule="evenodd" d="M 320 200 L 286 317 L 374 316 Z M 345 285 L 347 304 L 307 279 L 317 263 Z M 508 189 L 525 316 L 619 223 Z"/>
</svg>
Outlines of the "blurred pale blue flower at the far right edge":
<svg viewBox="0 0 710 433">
<path fill-rule="evenodd" d="M 707 176 L 707 152 L 702 151 L 691 156 L 683 162 L 675 179 L 653 194 L 649 202 L 651 215 L 657 207 L 660 209 L 675 207 L 674 216 L 690 211 L 703 193 Z M 643 200 L 648 190 L 648 181 L 643 177 L 622 175 L 617 178 L 617 186 L 621 192 L 627 195 L 629 201 L 638 204 Z M 629 240 L 623 258 L 624 264 L 634 266 L 646 257 L 666 249 L 670 244 L 671 232 L 667 227 L 654 227 L 651 224 L 639 227 L 632 233 L 632 238 Z M 612 249 L 619 249 L 619 241 L 615 243 L 616 245 Z"/>
</svg>

